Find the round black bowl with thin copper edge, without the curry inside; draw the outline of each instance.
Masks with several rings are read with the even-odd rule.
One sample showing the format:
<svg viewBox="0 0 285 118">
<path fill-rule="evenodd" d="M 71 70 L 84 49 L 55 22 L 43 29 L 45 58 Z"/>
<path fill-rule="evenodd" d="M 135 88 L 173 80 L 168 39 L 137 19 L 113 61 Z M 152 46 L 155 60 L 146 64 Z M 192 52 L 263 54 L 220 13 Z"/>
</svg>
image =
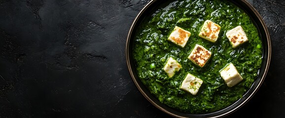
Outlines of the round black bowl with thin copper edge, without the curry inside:
<svg viewBox="0 0 285 118">
<path fill-rule="evenodd" d="M 181 113 L 178 112 L 174 109 L 169 108 L 168 106 L 160 103 L 157 98 L 155 98 L 150 91 L 143 85 L 141 80 L 138 78 L 134 59 L 133 59 L 133 46 L 134 46 L 134 36 L 136 33 L 136 30 L 138 29 L 138 26 L 140 23 L 143 21 L 145 16 L 149 15 L 151 10 L 155 7 L 160 2 L 164 2 L 165 0 L 151 0 L 143 9 L 142 11 L 138 14 L 137 18 L 133 22 L 131 29 L 128 34 L 127 38 L 127 44 L 126 44 L 126 58 L 127 58 L 127 64 L 129 68 L 129 72 L 133 78 L 134 83 L 138 87 L 138 89 L 141 91 L 143 96 L 155 107 L 158 109 L 162 110 L 163 112 L 173 116 L 173 117 L 178 117 L 178 118 L 193 118 L 193 117 L 224 117 L 226 115 L 229 115 L 239 108 L 241 108 L 243 105 L 245 105 L 250 98 L 256 93 L 256 91 L 260 88 L 262 85 L 266 73 L 269 68 L 269 63 L 270 63 L 270 57 L 271 57 L 271 43 L 270 43 L 270 36 L 268 33 L 268 30 L 266 28 L 266 25 L 259 15 L 259 13 L 247 2 L 246 0 L 230 0 L 232 3 L 243 9 L 250 17 L 252 20 L 253 24 L 256 26 L 259 32 L 259 36 L 261 37 L 262 43 L 263 43 L 263 61 L 261 65 L 261 69 L 259 72 L 259 75 L 251 88 L 248 90 L 244 96 L 239 99 L 237 102 L 232 104 L 231 106 L 222 109 L 220 111 L 210 113 L 210 114 L 201 114 L 201 115 L 193 115 L 193 114 L 186 114 L 186 113 Z M 173 0 L 175 1 L 175 0 Z"/>
</svg>

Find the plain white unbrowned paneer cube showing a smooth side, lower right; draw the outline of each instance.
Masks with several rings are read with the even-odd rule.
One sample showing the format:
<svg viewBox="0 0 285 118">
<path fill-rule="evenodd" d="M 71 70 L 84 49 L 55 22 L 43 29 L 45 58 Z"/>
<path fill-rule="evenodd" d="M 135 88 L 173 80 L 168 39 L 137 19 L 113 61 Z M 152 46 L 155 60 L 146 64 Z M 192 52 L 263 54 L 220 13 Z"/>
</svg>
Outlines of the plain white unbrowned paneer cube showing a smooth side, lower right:
<svg viewBox="0 0 285 118">
<path fill-rule="evenodd" d="M 243 80 L 243 77 L 240 75 L 233 63 L 229 63 L 221 69 L 220 75 L 228 87 L 233 87 Z"/>
</svg>

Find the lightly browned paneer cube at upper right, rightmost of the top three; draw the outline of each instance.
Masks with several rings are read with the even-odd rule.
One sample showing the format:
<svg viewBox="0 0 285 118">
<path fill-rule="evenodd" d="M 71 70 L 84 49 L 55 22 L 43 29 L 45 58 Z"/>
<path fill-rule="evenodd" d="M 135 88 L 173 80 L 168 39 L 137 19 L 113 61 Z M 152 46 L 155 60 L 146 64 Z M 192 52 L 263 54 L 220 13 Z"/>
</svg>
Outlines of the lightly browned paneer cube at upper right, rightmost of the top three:
<svg viewBox="0 0 285 118">
<path fill-rule="evenodd" d="M 234 29 L 229 30 L 226 32 L 226 36 L 230 40 L 233 48 L 236 48 L 240 44 L 243 44 L 249 40 L 242 26 L 238 26 Z"/>
</svg>

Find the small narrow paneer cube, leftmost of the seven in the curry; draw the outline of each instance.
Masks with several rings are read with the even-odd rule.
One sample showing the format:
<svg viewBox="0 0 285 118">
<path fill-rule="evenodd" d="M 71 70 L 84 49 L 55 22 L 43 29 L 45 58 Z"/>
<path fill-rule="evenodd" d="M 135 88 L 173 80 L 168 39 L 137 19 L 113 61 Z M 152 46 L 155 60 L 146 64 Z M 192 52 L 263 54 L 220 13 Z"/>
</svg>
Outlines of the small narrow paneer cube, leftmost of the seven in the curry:
<svg viewBox="0 0 285 118">
<path fill-rule="evenodd" d="M 180 68 L 182 68 L 182 66 L 177 62 L 177 60 L 170 57 L 164 65 L 163 69 L 167 73 L 168 77 L 172 78 Z"/>
</svg>

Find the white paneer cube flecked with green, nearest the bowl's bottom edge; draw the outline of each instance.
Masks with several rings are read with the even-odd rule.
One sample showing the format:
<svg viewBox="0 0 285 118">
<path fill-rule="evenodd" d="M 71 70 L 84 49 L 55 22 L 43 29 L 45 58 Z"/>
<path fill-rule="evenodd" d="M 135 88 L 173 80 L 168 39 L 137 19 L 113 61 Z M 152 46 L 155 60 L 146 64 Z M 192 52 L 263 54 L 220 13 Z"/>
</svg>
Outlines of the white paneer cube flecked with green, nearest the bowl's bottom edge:
<svg viewBox="0 0 285 118">
<path fill-rule="evenodd" d="M 180 89 L 190 92 L 193 95 L 196 95 L 202 83 L 203 80 L 188 73 L 184 78 Z"/>
</svg>

